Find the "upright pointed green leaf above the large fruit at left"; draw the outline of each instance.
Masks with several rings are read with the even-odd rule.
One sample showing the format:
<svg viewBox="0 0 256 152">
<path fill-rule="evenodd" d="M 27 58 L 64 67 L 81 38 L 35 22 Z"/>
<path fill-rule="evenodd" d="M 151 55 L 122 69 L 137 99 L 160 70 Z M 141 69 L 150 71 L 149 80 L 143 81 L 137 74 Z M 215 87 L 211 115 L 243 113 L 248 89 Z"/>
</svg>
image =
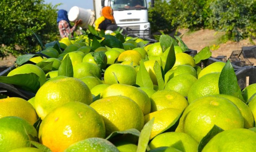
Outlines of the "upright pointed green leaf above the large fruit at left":
<svg viewBox="0 0 256 152">
<path fill-rule="evenodd" d="M 58 76 L 73 77 L 73 66 L 69 54 L 66 55 L 65 59 L 60 64 Z"/>
</svg>

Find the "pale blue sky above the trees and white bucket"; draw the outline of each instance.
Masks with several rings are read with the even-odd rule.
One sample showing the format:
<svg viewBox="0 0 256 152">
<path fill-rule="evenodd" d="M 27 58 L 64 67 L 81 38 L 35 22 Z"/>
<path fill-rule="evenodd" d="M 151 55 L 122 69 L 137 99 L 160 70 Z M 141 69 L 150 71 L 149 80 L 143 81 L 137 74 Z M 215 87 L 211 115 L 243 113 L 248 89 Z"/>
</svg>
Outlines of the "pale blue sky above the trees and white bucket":
<svg viewBox="0 0 256 152">
<path fill-rule="evenodd" d="M 147 0 L 149 2 L 150 0 Z M 93 10 L 93 2 L 92 0 L 44 0 L 45 3 L 52 3 L 52 5 L 56 5 L 58 3 L 62 3 L 62 5 L 58 6 L 58 9 L 65 9 L 69 11 L 71 7 L 78 6 L 84 9 L 92 9 Z"/>
</svg>

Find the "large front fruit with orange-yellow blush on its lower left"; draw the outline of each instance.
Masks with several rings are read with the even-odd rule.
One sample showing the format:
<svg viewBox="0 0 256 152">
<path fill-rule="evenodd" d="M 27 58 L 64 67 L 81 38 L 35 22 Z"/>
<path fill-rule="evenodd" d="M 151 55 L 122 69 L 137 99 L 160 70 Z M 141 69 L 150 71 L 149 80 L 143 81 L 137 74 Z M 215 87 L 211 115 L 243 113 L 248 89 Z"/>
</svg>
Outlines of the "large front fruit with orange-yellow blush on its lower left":
<svg viewBox="0 0 256 152">
<path fill-rule="evenodd" d="M 61 152 L 87 138 L 105 138 L 105 125 L 93 108 L 75 101 L 51 111 L 42 120 L 38 136 L 39 141 L 50 150 Z"/>
</svg>

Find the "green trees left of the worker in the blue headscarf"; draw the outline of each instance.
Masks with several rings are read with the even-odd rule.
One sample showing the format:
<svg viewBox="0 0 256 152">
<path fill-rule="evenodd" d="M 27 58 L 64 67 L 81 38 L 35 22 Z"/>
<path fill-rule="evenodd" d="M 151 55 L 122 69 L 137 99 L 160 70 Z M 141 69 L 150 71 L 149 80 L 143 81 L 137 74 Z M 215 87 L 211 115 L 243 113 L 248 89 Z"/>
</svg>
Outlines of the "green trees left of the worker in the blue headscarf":
<svg viewBox="0 0 256 152">
<path fill-rule="evenodd" d="M 58 36 L 57 6 L 44 4 L 44 0 L 0 1 L 0 52 L 23 53 L 38 51 L 39 43 L 32 31 L 44 43 Z M 0 54 L 1 56 L 1 54 Z"/>
</svg>

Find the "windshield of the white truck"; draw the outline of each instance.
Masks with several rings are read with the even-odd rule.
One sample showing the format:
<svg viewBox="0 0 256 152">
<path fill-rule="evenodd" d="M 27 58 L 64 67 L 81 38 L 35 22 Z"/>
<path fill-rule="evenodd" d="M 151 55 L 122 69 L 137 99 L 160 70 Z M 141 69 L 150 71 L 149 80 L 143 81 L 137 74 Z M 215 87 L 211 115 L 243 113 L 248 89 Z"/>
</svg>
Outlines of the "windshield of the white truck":
<svg viewBox="0 0 256 152">
<path fill-rule="evenodd" d="M 110 6 L 114 11 L 147 9 L 146 0 L 110 0 Z"/>
</svg>

